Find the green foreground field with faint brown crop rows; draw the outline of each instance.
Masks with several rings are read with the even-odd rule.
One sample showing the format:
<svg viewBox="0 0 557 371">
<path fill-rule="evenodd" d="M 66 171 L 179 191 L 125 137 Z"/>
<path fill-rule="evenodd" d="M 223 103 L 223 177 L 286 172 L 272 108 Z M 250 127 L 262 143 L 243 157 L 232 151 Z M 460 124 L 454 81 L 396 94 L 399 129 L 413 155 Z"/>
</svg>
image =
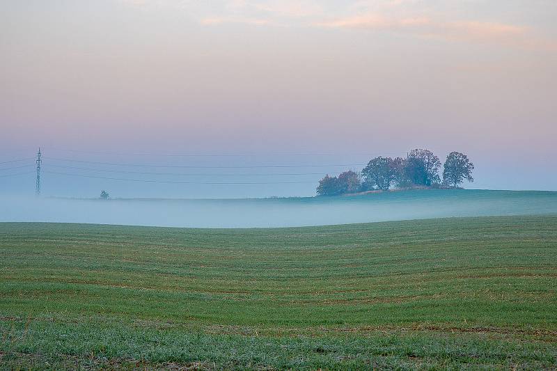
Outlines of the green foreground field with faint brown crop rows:
<svg viewBox="0 0 557 371">
<path fill-rule="evenodd" d="M 557 368 L 557 216 L 0 223 L 0 368 Z"/>
</svg>

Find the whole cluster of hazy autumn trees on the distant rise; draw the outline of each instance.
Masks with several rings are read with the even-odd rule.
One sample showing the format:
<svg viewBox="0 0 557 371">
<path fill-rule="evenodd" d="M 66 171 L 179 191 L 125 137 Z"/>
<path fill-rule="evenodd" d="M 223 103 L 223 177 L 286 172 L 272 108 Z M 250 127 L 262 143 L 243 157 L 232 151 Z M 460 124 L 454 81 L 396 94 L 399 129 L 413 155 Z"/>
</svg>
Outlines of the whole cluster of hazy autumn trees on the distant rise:
<svg viewBox="0 0 557 371">
<path fill-rule="evenodd" d="M 473 182 L 473 164 L 460 152 L 450 152 L 444 164 L 443 182 L 439 177 L 441 161 L 430 150 L 411 150 L 406 158 L 375 157 L 361 173 L 345 171 L 338 177 L 326 175 L 319 181 L 317 194 L 334 196 L 360 191 L 412 187 L 453 187 L 464 180 Z"/>
</svg>

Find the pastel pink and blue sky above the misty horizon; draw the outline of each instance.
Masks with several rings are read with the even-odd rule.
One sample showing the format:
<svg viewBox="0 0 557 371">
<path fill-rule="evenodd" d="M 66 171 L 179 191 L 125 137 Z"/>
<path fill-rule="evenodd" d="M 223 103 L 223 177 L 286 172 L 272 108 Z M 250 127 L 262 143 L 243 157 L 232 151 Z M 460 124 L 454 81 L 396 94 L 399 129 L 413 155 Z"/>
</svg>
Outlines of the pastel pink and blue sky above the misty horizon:
<svg viewBox="0 0 557 371">
<path fill-rule="evenodd" d="M 0 0 L 0 175 L 22 172 L 0 193 L 33 193 L 39 146 L 50 196 L 311 196 L 413 148 L 469 155 L 466 187 L 557 190 L 555 19 L 554 0 Z"/>
</svg>

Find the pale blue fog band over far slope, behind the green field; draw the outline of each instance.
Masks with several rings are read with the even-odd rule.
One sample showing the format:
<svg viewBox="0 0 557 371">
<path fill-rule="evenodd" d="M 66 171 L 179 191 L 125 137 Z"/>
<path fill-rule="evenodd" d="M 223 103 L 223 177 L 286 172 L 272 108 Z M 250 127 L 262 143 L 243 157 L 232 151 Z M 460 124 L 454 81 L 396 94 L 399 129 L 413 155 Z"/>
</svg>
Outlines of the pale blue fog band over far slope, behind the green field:
<svg viewBox="0 0 557 371">
<path fill-rule="evenodd" d="M 192 228 L 320 226 L 453 216 L 557 214 L 557 192 L 427 190 L 333 198 L 0 198 L 0 221 Z"/>
</svg>

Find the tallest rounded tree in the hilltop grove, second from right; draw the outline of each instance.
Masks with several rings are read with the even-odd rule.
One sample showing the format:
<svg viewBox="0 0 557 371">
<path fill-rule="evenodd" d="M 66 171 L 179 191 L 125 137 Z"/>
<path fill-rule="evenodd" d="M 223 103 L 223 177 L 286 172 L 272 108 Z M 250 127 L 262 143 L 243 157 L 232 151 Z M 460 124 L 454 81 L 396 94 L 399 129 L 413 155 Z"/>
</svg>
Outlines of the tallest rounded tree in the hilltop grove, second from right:
<svg viewBox="0 0 557 371">
<path fill-rule="evenodd" d="M 441 182 L 441 161 L 430 150 L 411 150 L 405 162 L 405 175 L 412 184 L 429 187 L 432 183 Z"/>
</svg>

